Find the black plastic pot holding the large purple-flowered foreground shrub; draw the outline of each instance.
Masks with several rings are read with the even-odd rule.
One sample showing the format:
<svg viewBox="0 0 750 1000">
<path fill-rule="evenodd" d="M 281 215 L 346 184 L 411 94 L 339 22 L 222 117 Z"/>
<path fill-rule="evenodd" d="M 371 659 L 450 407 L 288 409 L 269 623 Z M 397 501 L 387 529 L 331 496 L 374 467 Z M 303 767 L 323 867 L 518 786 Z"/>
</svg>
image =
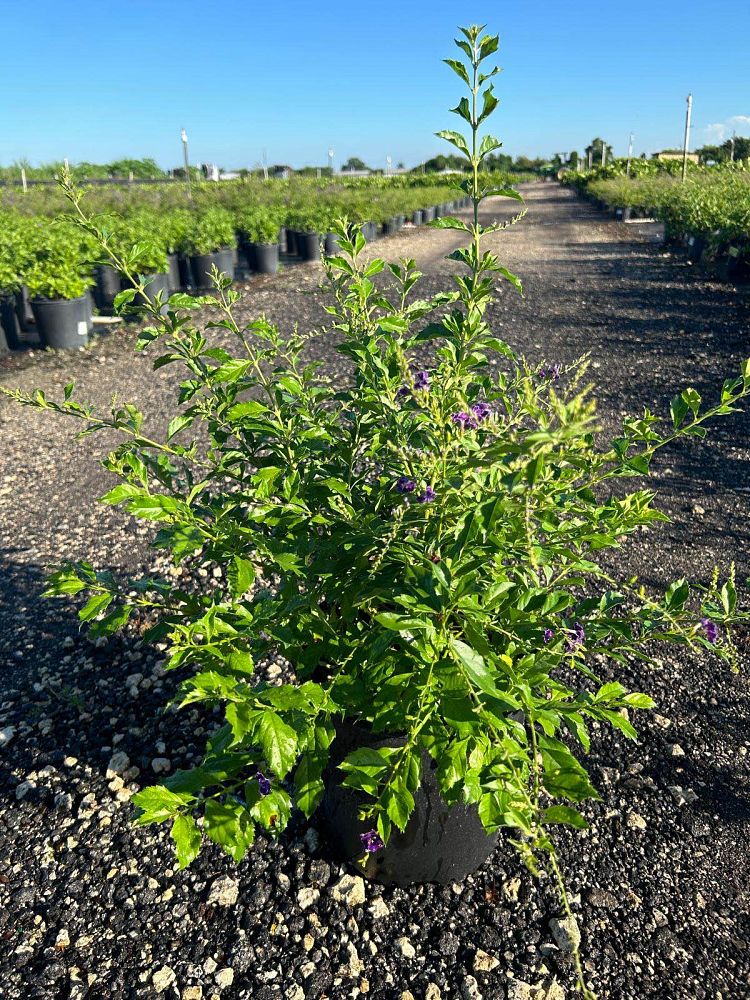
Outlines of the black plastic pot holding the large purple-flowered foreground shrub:
<svg viewBox="0 0 750 1000">
<path fill-rule="evenodd" d="M 365 854 L 361 834 L 372 824 L 360 820 L 358 811 L 368 800 L 361 792 L 337 784 L 342 773 L 336 768 L 358 747 L 377 749 L 402 744 L 402 737 L 375 736 L 362 725 L 337 726 L 319 810 L 322 825 L 337 853 L 366 878 L 400 886 L 460 882 L 484 864 L 498 835 L 485 832 L 475 806 L 446 805 L 435 775 L 437 764 L 426 752 L 422 754 L 422 784 L 414 796 L 414 812 L 406 829 L 401 833 L 394 828 L 388 844 L 366 854 L 364 868 L 360 863 Z"/>
</svg>

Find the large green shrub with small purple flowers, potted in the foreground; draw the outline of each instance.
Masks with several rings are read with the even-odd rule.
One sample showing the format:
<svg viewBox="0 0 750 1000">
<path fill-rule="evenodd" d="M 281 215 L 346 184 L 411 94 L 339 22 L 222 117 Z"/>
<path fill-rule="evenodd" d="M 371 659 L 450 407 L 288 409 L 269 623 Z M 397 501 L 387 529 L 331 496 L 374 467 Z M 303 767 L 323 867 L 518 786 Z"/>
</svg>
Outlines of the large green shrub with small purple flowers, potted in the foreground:
<svg viewBox="0 0 750 1000">
<path fill-rule="evenodd" d="M 469 162 L 477 217 L 488 190 L 479 168 L 497 145 L 477 142 L 496 103 L 478 78 L 498 41 L 461 30 L 468 67 L 449 65 L 469 81 L 472 100 L 459 107 L 472 134 L 439 135 Z M 493 75 L 482 67 L 485 82 Z M 749 617 L 731 574 L 652 595 L 601 566 L 600 551 L 665 520 L 652 491 L 621 481 L 735 410 L 750 395 L 750 361 L 716 405 L 686 389 L 666 425 L 646 411 L 600 443 L 581 366 L 529 365 L 486 322 L 493 275 L 521 288 L 482 245 L 506 223 L 433 224 L 466 244 L 449 257 L 461 268 L 456 289 L 430 300 L 415 297 L 414 262 L 364 263 L 362 234 L 336 227 L 341 254 L 326 275 L 338 350 L 353 369 L 344 384 L 306 363 L 304 338 L 265 320 L 240 326 L 221 276 L 211 301 L 223 319 L 205 331 L 192 315 L 205 300 L 167 316 L 151 307 L 141 346 L 157 348 L 155 367 L 180 359 L 189 373 L 165 440 L 141 436 L 134 407 L 100 415 L 74 390 L 61 401 L 10 393 L 121 432 L 128 443 L 106 463 L 120 482 L 102 501 L 154 522 L 155 546 L 183 574 L 214 581 L 116 583 L 76 563 L 47 593 L 85 593 L 80 618 L 95 635 L 145 615 L 146 638 L 165 643 L 168 667 L 182 672 L 180 705 L 223 711 L 198 767 L 134 798 L 139 823 L 170 824 L 180 866 L 204 837 L 239 861 L 256 827 L 275 836 L 293 808 L 309 817 L 325 803 L 366 874 L 408 881 L 409 845 L 426 841 L 460 871 L 464 842 L 432 829 L 437 807 L 471 817 L 472 837 L 481 825 L 474 863 L 509 831 L 532 872 L 549 869 L 572 919 L 554 836 L 560 824 L 584 828 L 581 803 L 597 794 L 581 754 L 601 725 L 634 738 L 631 713 L 653 705 L 612 679 L 618 664 L 648 659 L 657 640 L 731 663 L 731 627 Z M 138 283 L 126 260 L 113 263 Z M 385 292 L 372 280 L 380 273 L 393 286 Z M 234 335 L 236 352 L 210 346 L 214 325 Z M 438 348 L 431 368 L 420 360 L 428 344 Z M 205 449 L 193 446 L 198 424 Z M 272 653 L 289 665 L 278 685 L 255 674 Z M 590 997 L 577 945 L 573 961 Z"/>
</svg>

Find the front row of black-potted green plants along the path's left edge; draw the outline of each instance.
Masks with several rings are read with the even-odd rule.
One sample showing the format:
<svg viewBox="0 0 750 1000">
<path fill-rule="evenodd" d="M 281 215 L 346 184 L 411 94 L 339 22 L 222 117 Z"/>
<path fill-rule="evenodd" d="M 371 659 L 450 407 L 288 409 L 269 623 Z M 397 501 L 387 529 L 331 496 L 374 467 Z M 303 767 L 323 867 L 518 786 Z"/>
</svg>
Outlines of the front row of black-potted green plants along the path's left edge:
<svg viewBox="0 0 750 1000">
<path fill-rule="evenodd" d="M 233 279 L 238 253 L 250 270 L 274 273 L 282 240 L 289 255 L 317 259 L 321 241 L 329 252 L 333 250 L 333 221 L 347 209 L 355 216 L 369 214 L 378 220 L 363 220 L 369 239 L 400 229 L 407 209 L 411 223 L 420 225 L 445 214 L 457 202 L 442 200 L 418 209 L 412 206 L 435 195 L 444 199 L 446 190 L 424 185 L 414 191 L 401 187 L 384 192 L 369 205 L 369 195 L 357 191 L 356 197 L 339 192 L 335 198 L 329 192 L 320 203 L 297 203 L 286 209 L 273 204 L 242 204 L 235 210 L 220 204 L 162 212 L 141 208 L 126 214 L 105 213 L 101 222 L 114 252 L 137 248 L 138 273 L 149 276 L 147 294 L 155 299 L 161 293 L 166 301 L 170 292 L 180 288 L 209 287 L 213 268 Z M 394 211 L 397 214 L 389 214 Z M 8 345 L 20 345 L 19 331 L 28 329 L 30 321 L 35 322 L 47 346 L 85 344 L 93 302 L 100 310 L 111 311 L 123 290 L 120 276 L 110 265 L 96 263 L 99 249 L 66 225 L 64 216 L 52 224 L 45 216 L 7 213 L 3 222 L 6 236 L 0 242 L 0 298 Z M 134 304 L 142 304 L 142 298 L 139 293 Z"/>
</svg>

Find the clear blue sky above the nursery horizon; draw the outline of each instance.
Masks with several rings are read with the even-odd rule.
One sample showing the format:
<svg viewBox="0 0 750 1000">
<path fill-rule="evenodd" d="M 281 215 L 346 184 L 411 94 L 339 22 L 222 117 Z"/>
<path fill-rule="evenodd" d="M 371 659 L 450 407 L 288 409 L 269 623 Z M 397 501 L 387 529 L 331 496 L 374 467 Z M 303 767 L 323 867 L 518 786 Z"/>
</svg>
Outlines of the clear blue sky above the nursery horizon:
<svg viewBox="0 0 750 1000">
<path fill-rule="evenodd" d="M 441 63 L 455 26 L 500 34 L 493 132 L 512 155 L 624 154 L 750 135 L 748 0 L 361 4 L 327 0 L 7 3 L 0 163 L 154 156 L 225 168 L 413 165 L 445 144 L 460 82 Z"/>
</svg>

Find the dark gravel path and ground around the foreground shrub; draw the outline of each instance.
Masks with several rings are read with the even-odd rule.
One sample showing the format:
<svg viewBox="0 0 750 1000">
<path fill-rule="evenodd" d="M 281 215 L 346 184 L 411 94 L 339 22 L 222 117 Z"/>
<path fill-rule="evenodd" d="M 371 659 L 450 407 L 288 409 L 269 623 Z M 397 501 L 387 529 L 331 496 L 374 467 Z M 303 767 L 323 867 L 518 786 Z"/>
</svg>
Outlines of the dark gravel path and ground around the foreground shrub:
<svg viewBox="0 0 750 1000">
<path fill-rule="evenodd" d="M 531 359 L 590 352 L 602 425 L 663 412 L 693 384 L 716 393 L 748 352 L 748 290 L 710 282 L 654 242 L 653 227 L 603 219 L 552 185 L 526 190 L 528 217 L 493 237 L 524 279 L 493 325 Z M 498 209 L 488 208 L 492 215 Z M 404 231 L 375 248 L 414 256 L 425 291 L 449 286 L 456 234 Z M 245 286 L 243 313 L 322 326 L 317 265 Z M 159 428 L 171 368 L 132 354 L 132 331 L 75 355 L 0 359 L 0 382 L 131 399 Z M 314 353 L 330 361 L 321 333 Z M 16 998 L 222 1000 L 563 1000 L 573 996 L 555 895 L 501 839 L 461 886 L 364 884 L 314 825 L 262 838 L 235 867 L 209 846 L 185 872 L 167 837 L 137 830 L 129 798 L 189 762 L 213 725 L 162 706 L 174 687 L 135 631 L 91 644 L 75 609 L 39 598 L 63 557 L 119 571 L 159 569 L 145 532 L 95 505 L 107 488 L 101 436 L 0 402 L 0 982 Z M 627 550 L 647 584 L 705 579 L 715 562 L 750 572 L 748 419 L 660 460 L 673 520 Z M 163 569 L 163 567 L 161 567 Z M 747 587 L 743 586 L 745 595 Z M 267 666 L 278 676 L 276 664 Z M 606 673 L 606 666 L 601 668 Z M 590 764 L 602 801 L 591 830 L 563 837 L 583 954 L 600 998 L 750 996 L 750 699 L 739 675 L 670 652 L 624 683 L 651 692 L 640 745 L 600 732 Z"/>
</svg>

